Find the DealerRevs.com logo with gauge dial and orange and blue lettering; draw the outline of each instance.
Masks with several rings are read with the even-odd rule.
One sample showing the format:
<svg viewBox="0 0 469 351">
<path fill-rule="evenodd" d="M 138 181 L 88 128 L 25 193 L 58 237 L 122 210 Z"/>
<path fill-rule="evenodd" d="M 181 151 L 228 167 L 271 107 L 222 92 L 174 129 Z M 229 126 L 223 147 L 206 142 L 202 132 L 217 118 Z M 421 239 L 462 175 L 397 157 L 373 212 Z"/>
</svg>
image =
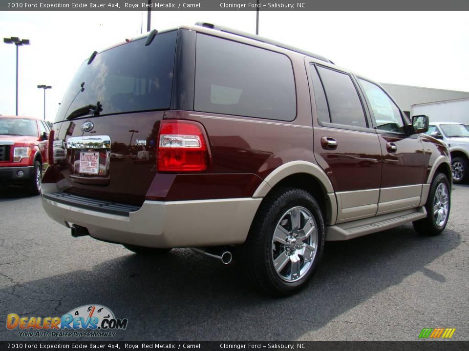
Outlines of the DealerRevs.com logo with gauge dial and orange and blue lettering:
<svg viewBox="0 0 469 351">
<path fill-rule="evenodd" d="M 20 317 L 9 313 L 6 328 L 18 329 L 24 337 L 113 337 L 116 330 L 127 328 L 128 319 L 119 319 L 105 306 L 85 305 L 62 317 Z"/>
</svg>

